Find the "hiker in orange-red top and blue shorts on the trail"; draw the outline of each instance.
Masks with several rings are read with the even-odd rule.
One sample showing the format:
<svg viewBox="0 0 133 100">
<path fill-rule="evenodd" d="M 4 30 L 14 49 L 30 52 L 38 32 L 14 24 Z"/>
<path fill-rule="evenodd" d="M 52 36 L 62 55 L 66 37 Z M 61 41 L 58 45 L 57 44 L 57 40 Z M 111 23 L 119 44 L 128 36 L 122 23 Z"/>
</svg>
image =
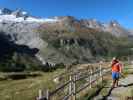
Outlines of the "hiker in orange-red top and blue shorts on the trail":
<svg viewBox="0 0 133 100">
<path fill-rule="evenodd" d="M 122 64 L 119 62 L 118 58 L 114 57 L 111 62 L 111 67 L 112 67 L 112 79 L 113 79 L 112 87 L 114 88 L 115 86 L 116 87 L 118 86 Z"/>
</svg>

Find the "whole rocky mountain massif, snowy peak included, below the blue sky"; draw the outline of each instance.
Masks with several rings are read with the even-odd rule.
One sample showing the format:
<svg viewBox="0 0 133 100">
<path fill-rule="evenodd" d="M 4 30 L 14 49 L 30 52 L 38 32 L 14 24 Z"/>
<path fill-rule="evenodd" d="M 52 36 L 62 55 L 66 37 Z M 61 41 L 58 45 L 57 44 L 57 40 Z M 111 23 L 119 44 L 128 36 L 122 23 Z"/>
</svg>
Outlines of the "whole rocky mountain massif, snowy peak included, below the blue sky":
<svg viewBox="0 0 133 100">
<path fill-rule="evenodd" d="M 0 9 L 0 39 L 6 37 L 8 42 L 22 46 L 24 53 L 27 50 L 23 47 L 27 47 L 31 50 L 28 54 L 42 64 L 90 62 L 115 53 L 118 46 L 126 47 L 131 35 L 116 21 L 101 23 L 72 16 L 37 18 L 20 9 Z M 7 45 L 1 45 L 4 51 Z"/>
</svg>

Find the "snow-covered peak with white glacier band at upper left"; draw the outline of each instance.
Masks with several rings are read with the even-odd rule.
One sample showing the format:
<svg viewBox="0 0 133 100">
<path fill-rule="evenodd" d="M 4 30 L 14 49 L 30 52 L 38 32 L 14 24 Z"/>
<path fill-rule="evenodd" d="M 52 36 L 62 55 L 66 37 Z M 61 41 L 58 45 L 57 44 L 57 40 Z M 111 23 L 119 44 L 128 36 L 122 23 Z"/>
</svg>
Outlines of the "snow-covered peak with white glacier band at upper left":
<svg viewBox="0 0 133 100">
<path fill-rule="evenodd" d="M 7 8 L 0 9 L 0 22 L 11 21 L 11 22 L 57 22 L 57 18 L 36 18 L 32 17 L 26 11 L 17 9 L 15 11 L 9 10 Z"/>
</svg>

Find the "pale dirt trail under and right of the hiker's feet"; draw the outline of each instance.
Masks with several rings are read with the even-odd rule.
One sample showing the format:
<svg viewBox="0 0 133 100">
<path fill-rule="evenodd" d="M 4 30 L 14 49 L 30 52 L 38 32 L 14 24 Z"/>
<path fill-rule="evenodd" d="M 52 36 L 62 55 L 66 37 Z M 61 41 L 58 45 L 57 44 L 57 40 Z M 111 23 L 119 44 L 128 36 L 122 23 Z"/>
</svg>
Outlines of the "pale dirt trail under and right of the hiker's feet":
<svg viewBox="0 0 133 100">
<path fill-rule="evenodd" d="M 126 78 L 121 79 L 119 87 L 110 89 L 110 94 L 107 100 L 126 100 L 132 96 L 133 91 L 133 75 L 128 75 Z"/>
</svg>

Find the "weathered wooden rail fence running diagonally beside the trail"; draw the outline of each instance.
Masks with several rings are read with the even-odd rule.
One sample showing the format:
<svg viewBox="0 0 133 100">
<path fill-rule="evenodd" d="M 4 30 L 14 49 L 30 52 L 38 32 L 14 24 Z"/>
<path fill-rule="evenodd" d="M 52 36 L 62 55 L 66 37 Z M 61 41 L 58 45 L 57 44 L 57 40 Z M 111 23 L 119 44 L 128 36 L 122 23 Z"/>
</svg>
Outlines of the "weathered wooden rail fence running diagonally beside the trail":
<svg viewBox="0 0 133 100">
<path fill-rule="evenodd" d="M 111 68 L 102 68 L 101 64 L 94 70 L 74 72 L 69 75 L 69 80 L 53 91 L 39 90 L 37 100 L 76 100 L 76 95 L 86 88 L 92 88 L 94 83 L 103 81 L 103 76 L 111 72 Z M 79 85 L 81 84 L 81 85 Z M 61 92 L 59 95 L 58 92 Z"/>
</svg>

